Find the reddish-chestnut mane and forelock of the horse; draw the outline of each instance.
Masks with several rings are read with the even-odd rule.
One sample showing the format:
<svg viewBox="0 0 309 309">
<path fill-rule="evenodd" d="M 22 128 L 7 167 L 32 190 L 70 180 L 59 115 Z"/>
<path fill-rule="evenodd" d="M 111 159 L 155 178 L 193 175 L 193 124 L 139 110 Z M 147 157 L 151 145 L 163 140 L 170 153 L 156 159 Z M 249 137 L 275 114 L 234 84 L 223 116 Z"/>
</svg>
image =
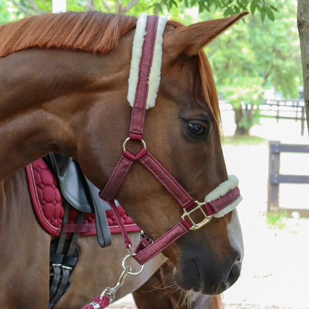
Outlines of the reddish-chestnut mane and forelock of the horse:
<svg viewBox="0 0 309 309">
<path fill-rule="evenodd" d="M 122 14 L 65 12 L 42 14 L 0 26 L 0 57 L 28 49 L 68 49 L 105 54 L 116 47 L 119 39 L 135 28 L 137 18 Z M 182 23 L 169 20 L 173 27 Z M 197 52 L 203 91 L 216 126 L 221 129 L 218 96 L 208 59 Z"/>
</svg>

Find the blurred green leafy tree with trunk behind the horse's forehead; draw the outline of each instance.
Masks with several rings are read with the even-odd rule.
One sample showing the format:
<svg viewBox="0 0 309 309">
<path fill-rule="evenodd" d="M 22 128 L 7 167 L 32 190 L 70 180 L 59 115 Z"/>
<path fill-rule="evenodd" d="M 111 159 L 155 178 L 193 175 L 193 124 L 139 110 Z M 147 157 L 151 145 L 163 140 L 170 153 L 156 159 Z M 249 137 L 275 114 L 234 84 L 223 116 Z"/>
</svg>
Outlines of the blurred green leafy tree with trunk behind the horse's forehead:
<svg viewBox="0 0 309 309">
<path fill-rule="evenodd" d="M 276 19 L 252 15 L 207 46 L 218 92 L 232 104 L 235 134 L 249 134 L 260 118 L 265 89 L 298 98 L 302 81 L 296 5 L 286 0 Z"/>
</svg>

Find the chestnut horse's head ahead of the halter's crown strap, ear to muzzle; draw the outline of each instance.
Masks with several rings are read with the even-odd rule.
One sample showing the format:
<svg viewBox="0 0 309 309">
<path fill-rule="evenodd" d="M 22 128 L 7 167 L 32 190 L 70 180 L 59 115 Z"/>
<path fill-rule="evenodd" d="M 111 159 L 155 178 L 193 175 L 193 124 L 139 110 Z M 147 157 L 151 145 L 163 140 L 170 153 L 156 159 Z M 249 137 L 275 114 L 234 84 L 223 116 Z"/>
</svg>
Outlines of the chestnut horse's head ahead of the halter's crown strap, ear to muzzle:
<svg viewBox="0 0 309 309">
<path fill-rule="evenodd" d="M 201 48 L 242 15 L 188 27 L 169 22 L 163 34 L 161 78 L 155 106 L 146 112 L 145 142 L 199 201 L 228 179 L 216 89 Z M 131 145 L 132 153 L 140 147 Z M 154 240 L 182 215 L 174 197 L 139 162 L 133 164 L 116 198 Z M 201 221 L 199 214 L 196 220 Z M 236 210 L 190 231 L 163 253 L 174 265 L 173 279 L 180 288 L 207 295 L 222 293 L 238 279 L 243 259 Z"/>
</svg>

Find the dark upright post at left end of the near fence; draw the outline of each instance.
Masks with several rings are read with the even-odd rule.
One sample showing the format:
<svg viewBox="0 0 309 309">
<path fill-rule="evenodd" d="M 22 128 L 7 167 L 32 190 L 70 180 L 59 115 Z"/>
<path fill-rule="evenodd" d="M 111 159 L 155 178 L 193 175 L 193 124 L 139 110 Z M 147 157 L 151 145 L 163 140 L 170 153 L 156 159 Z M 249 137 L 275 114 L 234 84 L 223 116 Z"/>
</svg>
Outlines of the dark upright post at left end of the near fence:
<svg viewBox="0 0 309 309">
<path fill-rule="evenodd" d="M 279 182 L 278 174 L 280 168 L 279 141 L 269 142 L 269 169 L 268 169 L 268 199 L 267 211 L 279 207 Z M 276 183 L 277 180 L 277 183 Z"/>
</svg>

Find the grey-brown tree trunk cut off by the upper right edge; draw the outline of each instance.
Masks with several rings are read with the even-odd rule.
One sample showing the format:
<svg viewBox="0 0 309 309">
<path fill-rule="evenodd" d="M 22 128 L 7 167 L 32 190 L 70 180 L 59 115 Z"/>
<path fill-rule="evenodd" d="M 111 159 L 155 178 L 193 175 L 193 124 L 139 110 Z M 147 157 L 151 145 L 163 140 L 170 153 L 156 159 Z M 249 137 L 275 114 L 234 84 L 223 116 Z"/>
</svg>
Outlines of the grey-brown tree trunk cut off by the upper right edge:
<svg viewBox="0 0 309 309">
<path fill-rule="evenodd" d="M 309 130 L 309 1 L 298 0 L 297 25 L 300 34 L 304 77 L 304 100 Z"/>
</svg>

